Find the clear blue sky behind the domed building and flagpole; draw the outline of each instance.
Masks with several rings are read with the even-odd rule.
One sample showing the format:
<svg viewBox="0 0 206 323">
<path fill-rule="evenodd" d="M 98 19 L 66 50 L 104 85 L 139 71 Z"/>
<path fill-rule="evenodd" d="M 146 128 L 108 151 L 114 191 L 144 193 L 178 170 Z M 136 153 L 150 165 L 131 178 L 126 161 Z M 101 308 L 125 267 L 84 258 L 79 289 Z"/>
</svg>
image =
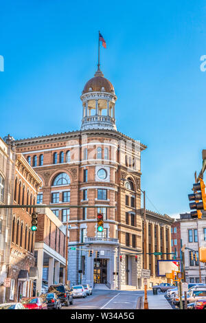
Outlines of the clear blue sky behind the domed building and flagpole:
<svg viewBox="0 0 206 323">
<path fill-rule="evenodd" d="M 80 94 L 97 65 L 117 94 L 117 129 L 148 146 L 146 208 L 189 211 L 205 147 L 206 2 L 1 1 L 0 136 L 80 129 Z M 155 208 L 154 208 L 155 205 Z"/>
</svg>

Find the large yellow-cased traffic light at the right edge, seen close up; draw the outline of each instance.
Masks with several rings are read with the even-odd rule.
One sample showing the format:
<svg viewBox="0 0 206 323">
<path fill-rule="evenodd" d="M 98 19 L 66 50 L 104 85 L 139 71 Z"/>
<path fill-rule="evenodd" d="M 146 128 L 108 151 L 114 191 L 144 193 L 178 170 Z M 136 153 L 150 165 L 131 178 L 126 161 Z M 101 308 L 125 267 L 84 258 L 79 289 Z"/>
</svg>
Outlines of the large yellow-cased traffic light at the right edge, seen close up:
<svg viewBox="0 0 206 323">
<path fill-rule="evenodd" d="M 190 210 L 196 210 L 190 212 L 192 218 L 202 219 L 201 210 L 206 210 L 206 194 L 205 194 L 205 183 L 203 179 L 200 179 L 199 183 L 193 184 L 193 194 L 188 194 L 190 203 Z M 202 200 L 202 201 L 201 201 Z"/>
</svg>

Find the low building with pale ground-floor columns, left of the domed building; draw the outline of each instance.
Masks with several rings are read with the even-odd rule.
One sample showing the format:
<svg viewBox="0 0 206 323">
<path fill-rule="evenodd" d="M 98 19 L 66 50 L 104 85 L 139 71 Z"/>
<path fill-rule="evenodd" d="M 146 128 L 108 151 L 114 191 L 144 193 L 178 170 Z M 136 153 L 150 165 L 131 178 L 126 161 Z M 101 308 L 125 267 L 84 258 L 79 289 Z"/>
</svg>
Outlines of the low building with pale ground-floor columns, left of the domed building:
<svg viewBox="0 0 206 323">
<path fill-rule="evenodd" d="M 38 268 L 36 292 L 41 294 L 42 282 L 65 284 L 66 227 L 49 208 L 38 208 L 38 231 L 34 245 Z"/>
</svg>

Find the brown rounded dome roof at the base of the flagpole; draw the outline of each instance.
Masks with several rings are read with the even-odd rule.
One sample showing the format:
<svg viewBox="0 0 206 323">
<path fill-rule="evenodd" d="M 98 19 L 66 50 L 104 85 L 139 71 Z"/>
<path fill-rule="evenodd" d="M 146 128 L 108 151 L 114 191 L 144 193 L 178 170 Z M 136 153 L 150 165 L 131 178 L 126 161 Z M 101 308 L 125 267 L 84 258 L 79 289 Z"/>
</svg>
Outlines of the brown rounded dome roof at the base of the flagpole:
<svg viewBox="0 0 206 323">
<path fill-rule="evenodd" d="M 104 88 L 104 89 L 102 89 Z M 91 91 L 104 91 L 108 93 L 115 93 L 115 89 L 113 88 L 113 85 L 107 78 L 104 78 L 104 74 L 100 69 L 96 71 L 94 78 L 91 78 L 86 85 L 84 86 L 84 89 L 82 91 L 82 94 L 91 92 Z"/>
</svg>

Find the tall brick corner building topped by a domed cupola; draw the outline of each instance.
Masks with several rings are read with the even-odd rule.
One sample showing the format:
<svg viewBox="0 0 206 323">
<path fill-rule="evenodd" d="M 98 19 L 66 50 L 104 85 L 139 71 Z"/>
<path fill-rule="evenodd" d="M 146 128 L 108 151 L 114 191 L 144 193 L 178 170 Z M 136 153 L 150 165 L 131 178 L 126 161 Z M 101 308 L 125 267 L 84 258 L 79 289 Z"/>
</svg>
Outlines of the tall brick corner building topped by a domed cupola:
<svg viewBox="0 0 206 323">
<path fill-rule="evenodd" d="M 99 68 L 80 98 L 80 131 L 16 140 L 16 150 L 43 181 L 38 203 L 65 205 L 54 213 L 62 223 L 68 216 L 69 244 L 87 243 L 69 249 L 71 284 L 141 287 L 141 256 L 136 262 L 132 254 L 142 250 L 140 161 L 146 146 L 117 131 L 117 96 Z M 96 208 L 69 209 L 69 205 Z M 104 214 L 101 233 L 98 212 Z M 94 251 L 92 257 L 89 249 Z"/>
</svg>

